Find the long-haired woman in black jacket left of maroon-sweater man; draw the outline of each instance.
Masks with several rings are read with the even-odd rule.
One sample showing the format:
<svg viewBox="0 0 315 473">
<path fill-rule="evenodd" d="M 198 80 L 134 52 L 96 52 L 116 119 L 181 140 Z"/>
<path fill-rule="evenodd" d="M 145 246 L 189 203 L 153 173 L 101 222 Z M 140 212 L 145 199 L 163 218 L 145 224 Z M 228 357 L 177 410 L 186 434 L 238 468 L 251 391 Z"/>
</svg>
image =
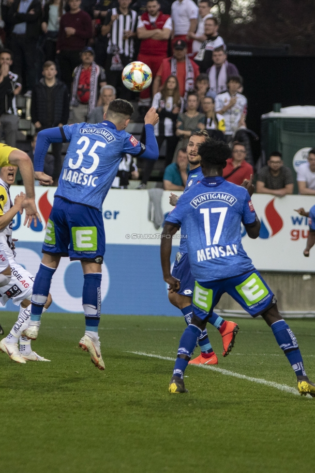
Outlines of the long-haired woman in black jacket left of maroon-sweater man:
<svg viewBox="0 0 315 473">
<path fill-rule="evenodd" d="M 49 0 L 45 3 L 42 30 L 45 33 L 45 61 L 56 61 L 56 44 L 59 22 L 64 14 L 63 0 Z"/>
</svg>

